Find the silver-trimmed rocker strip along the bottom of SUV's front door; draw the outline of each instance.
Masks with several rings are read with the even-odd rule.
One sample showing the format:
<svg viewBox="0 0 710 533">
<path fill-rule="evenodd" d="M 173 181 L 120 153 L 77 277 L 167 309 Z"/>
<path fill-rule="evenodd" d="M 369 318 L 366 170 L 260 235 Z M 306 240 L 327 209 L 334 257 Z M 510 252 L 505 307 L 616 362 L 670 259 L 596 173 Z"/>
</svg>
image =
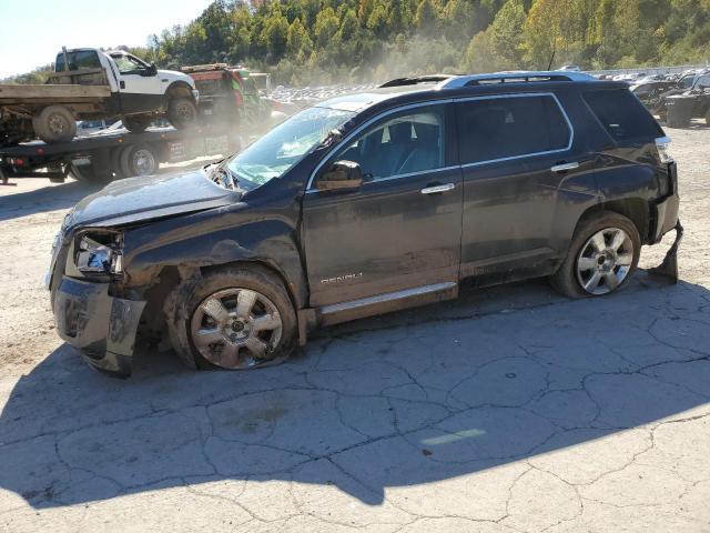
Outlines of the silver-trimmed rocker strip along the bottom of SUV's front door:
<svg viewBox="0 0 710 533">
<path fill-rule="evenodd" d="M 447 281 L 324 305 L 316 310 L 316 315 L 320 325 L 329 325 L 427 303 L 453 300 L 456 296 L 458 296 L 458 283 Z"/>
</svg>

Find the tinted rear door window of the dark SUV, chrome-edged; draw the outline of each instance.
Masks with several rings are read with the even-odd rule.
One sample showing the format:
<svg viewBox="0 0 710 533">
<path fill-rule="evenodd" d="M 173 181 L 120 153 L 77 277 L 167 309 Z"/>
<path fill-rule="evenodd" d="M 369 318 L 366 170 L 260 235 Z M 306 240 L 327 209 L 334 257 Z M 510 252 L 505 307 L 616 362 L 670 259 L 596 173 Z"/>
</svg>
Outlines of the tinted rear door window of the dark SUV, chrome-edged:
<svg viewBox="0 0 710 533">
<path fill-rule="evenodd" d="M 457 102 L 462 164 L 566 150 L 571 130 L 550 95 Z"/>
</svg>

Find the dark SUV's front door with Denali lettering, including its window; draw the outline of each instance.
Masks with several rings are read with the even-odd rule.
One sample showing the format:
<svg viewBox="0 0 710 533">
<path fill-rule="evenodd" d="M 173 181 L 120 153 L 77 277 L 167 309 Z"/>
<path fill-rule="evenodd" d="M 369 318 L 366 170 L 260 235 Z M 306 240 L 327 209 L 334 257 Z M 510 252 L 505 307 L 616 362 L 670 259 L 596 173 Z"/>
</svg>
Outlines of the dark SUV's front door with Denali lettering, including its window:
<svg viewBox="0 0 710 533">
<path fill-rule="evenodd" d="M 460 168 L 446 143 L 445 104 L 388 113 L 346 139 L 303 201 L 311 306 L 458 281 Z M 357 190 L 320 191 L 335 161 L 357 162 Z"/>
</svg>

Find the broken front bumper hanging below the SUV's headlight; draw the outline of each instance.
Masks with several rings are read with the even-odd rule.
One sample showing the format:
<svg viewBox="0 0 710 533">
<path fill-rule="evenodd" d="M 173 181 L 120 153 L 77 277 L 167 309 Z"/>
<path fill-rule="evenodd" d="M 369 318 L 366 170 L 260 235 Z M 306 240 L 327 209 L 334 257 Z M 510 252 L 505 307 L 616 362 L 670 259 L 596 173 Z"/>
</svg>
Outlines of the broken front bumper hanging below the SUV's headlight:
<svg viewBox="0 0 710 533">
<path fill-rule="evenodd" d="M 128 378 L 144 306 L 144 301 L 111 296 L 109 283 L 64 275 L 54 295 L 54 322 L 59 335 L 81 350 L 89 364 Z"/>
</svg>

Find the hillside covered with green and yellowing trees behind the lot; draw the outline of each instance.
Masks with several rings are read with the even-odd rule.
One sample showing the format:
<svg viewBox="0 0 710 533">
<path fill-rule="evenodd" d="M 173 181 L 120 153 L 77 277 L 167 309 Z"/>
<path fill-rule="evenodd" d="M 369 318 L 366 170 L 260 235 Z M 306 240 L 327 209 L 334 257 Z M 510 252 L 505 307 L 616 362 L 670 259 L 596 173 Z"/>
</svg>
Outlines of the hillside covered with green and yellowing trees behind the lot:
<svg viewBox="0 0 710 533">
<path fill-rule="evenodd" d="M 286 84 L 704 63 L 710 0 L 215 0 L 134 51 L 162 68 L 242 63 Z"/>
</svg>

